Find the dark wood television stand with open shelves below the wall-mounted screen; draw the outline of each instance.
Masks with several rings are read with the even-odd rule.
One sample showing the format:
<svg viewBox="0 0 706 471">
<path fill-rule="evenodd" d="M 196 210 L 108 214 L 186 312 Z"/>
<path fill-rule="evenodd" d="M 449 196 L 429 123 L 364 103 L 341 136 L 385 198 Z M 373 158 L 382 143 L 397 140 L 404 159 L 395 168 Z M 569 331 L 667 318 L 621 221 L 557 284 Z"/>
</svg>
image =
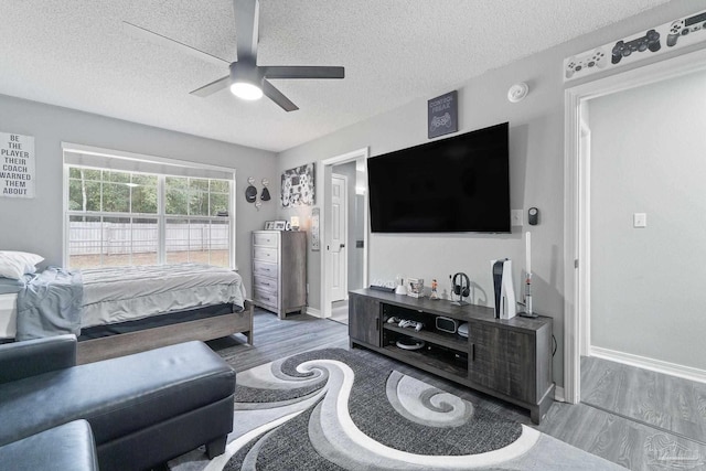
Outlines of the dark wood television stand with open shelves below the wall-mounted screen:
<svg viewBox="0 0 706 471">
<path fill-rule="evenodd" d="M 424 324 L 416 331 L 392 317 Z M 469 335 L 436 329 L 438 317 L 468 322 Z M 349 293 L 351 347 L 364 346 L 530 410 L 539 424 L 554 400 L 552 318 L 495 319 L 493 309 L 359 289 Z M 407 350 L 400 339 L 421 340 Z"/>
</svg>

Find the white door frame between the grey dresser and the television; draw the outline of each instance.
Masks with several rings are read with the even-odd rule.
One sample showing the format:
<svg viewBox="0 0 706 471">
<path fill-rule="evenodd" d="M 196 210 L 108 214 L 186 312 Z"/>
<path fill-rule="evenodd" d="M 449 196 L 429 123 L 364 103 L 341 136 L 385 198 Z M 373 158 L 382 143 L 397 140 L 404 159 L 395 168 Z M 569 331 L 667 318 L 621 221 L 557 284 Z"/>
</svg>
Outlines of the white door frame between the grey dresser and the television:
<svg viewBox="0 0 706 471">
<path fill-rule="evenodd" d="M 331 317 L 331 286 L 328 281 L 328 267 L 331 266 L 331 257 L 329 250 L 325 249 L 327 244 L 331 239 L 331 173 L 334 165 L 340 163 L 353 162 L 359 159 L 365 159 L 370 157 L 370 148 L 364 147 L 351 152 L 346 152 L 340 156 L 335 156 L 329 159 L 321 160 L 323 167 L 323 210 L 321 211 L 321 317 Z M 365 194 L 363 196 L 363 224 L 365 231 L 363 231 L 363 286 L 367 286 L 367 267 L 368 267 L 368 240 L 370 240 L 370 225 L 368 225 L 368 202 L 367 202 L 367 180 L 365 181 Z M 349 227 L 349 231 L 351 228 Z"/>
</svg>

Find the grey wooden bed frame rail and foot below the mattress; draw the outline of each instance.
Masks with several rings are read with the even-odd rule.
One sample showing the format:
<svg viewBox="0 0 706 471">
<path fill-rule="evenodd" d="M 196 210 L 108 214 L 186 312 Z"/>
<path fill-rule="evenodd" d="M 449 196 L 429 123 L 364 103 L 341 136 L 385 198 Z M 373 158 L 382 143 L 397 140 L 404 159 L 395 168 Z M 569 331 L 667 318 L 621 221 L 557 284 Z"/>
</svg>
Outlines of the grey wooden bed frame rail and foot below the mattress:
<svg viewBox="0 0 706 471">
<path fill-rule="evenodd" d="M 245 300 L 243 312 L 81 341 L 76 362 L 93 363 L 191 340 L 205 342 L 234 333 L 245 334 L 247 343 L 253 344 L 253 301 Z"/>
</svg>

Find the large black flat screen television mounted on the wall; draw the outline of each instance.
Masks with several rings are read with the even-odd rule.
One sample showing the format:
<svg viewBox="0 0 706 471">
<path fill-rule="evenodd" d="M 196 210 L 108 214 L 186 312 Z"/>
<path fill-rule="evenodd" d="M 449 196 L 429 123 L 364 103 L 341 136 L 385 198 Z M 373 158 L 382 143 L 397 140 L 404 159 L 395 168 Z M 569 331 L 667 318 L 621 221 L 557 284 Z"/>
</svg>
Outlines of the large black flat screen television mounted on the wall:
<svg viewBox="0 0 706 471">
<path fill-rule="evenodd" d="M 509 233 L 507 122 L 367 160 L 374 233 Z"/>
</svg>

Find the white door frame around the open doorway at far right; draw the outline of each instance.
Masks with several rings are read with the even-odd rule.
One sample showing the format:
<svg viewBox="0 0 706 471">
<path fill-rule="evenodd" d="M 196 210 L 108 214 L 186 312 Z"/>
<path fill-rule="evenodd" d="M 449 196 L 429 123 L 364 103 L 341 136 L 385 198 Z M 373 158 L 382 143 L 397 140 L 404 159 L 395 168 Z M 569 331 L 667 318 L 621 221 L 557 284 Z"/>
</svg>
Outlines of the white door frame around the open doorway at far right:
<svg viewBox="0 0 706 471">
<path fill-rule="evenodd" d="M 704 69 L 706 50 L 697 50 L 564 93 L 564 396 L 568 403 L 580 402 L 580 357 L 590 349 L 590 156 L 581 153 L 586 105 L 592 98 Z"/>
</svg>

